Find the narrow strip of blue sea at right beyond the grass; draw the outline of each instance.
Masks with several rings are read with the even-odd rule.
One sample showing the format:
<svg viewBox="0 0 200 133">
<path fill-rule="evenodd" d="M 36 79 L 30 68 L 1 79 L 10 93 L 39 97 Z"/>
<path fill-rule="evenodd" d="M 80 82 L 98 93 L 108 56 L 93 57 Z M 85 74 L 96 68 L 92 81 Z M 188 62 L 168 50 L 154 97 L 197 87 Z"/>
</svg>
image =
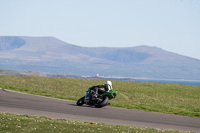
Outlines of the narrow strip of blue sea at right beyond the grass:
<svg viewBox="0 0 200 133">
<path fill-rule="evenodd" d="M 200 86 L 200 81 L 197 80 L 135 79 L 135 82 L 158 82 Z"/>
</svg>

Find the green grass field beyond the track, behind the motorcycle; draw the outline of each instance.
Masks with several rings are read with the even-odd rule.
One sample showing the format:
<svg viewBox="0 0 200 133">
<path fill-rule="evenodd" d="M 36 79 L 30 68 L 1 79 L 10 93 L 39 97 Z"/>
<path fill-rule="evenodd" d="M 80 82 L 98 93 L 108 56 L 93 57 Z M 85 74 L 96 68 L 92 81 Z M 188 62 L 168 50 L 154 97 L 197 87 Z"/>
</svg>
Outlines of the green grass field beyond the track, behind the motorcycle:
<svg viewBox="0 0 200 133">
<path fill-rule="evenodd" d="M 61 77 L 0 76 L 0 87 L 36 95 L 78 100 L 106 80 Z M 118 92 L 111 106 L 200 117 L 200 86 L 112 81 Z"/>
</svg>

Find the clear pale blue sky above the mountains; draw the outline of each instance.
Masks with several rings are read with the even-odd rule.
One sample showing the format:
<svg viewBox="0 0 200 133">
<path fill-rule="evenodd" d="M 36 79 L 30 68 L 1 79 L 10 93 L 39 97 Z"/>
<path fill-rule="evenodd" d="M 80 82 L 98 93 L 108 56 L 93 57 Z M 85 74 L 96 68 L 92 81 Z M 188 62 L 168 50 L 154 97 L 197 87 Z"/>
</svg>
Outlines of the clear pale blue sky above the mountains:
<svg viewBox="0 0 200 133">
<path fill-rule="evenodd" d="M 200 59 L 200 0 L 0 0 L 0 36 L 148 45 Z"/>
</svg>

